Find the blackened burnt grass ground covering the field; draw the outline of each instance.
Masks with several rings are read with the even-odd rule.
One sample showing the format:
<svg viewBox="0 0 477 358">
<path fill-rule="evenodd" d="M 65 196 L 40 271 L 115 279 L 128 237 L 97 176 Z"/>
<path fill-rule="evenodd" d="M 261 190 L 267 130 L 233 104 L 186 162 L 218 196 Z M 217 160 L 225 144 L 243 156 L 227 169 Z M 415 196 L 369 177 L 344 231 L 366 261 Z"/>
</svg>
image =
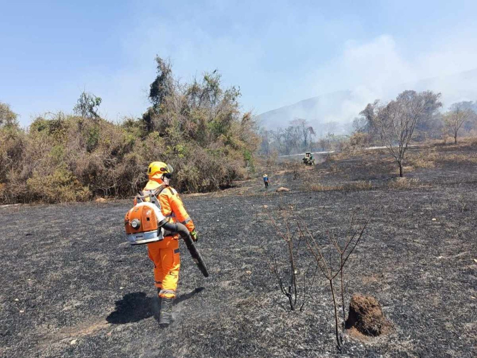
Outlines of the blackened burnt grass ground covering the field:
<svg viewBox="0 0 477 358">
<path fill-rule="evenodd" d="M 271 189 L 293 189 L 283 195 L 260 191 L 259 178 L 228 194 L 185 195 L 211 275 L 201 277 L 182 245 L 176 321 L 166 330 L 156 320 L 146 248 L 125 243 L 130 201 L 1 207 L 0 356 L 340 355 L 326 281 L 318 276 L 304 310 L 290 311 L 270 270 L 273 254 L 284 275 L 288 265 L 267 213 L 282 222 L 291 204 L 317 238 L 323 227 L 342 233 L 352 212 L 369 219 L 345 271 L 346 300 L 375 296 L 395 329 L 346 335 L 343 356 L 476 357 L 473 159 L 440 153 L 432 168 L 409 171 L 424 183 L 414 187 L 302 189 L 310 181 L 392 180 L 392 163 L 379 167 L 380 155 L 329 160 L 298 175 L 291 167 L 272 172 Z M 310 254 L 300 250 L 297 268 L 310 278 Z"/>
</svg>

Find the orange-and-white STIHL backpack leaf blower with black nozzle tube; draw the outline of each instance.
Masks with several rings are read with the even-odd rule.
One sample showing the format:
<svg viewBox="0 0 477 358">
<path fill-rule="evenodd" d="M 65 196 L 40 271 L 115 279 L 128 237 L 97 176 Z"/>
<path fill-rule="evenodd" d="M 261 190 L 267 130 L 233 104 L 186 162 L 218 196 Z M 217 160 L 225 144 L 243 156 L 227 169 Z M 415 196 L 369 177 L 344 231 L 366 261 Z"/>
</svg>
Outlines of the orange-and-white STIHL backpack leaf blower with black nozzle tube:
<svg viewBox="0 0 477 358">
<path fill-rule="evenodd" d="M 136 197 L 141 199 L 140 196 Z M 164 239 L 164 232 L 178 233 L 184 240 L 187 250 L 192 256 L 192 260 L 197 264 L 204 277 L 208 277 L 207 266 L 204 259 L 197 250 L 187 227 L 180 222 L 168 222 L 162 214 L 158 201 L 156 205 L 142 201 L 131 208 L 124 217 L 124 228 L 127 234 L 127 240 L 131 245 L 144 245 L 151 242 L 157 242 Z"/>
</svg>

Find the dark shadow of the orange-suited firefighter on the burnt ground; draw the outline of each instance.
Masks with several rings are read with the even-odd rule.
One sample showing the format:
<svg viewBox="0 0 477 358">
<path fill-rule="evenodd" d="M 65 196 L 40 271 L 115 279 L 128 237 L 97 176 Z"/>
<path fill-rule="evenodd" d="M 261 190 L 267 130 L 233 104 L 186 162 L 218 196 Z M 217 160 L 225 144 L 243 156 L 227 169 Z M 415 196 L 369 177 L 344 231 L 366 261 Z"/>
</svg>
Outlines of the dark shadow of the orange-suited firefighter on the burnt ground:
<svg viewBox="0 0 477 358">
<path fill-rule="evenodd" d="M 179 295 L 174 304 L 188 300 L 202 290 L 204 287 L 198 287 L 187 294 Z M 116 309 L 106 317 L 106 321 L 114 325 L 139 322 L 151 316 L 159 319 L 160 304 L 156 295 L 148 297 L 144 292 L 133 292 L 124 295 L 115 305 Z"/>
</svg>

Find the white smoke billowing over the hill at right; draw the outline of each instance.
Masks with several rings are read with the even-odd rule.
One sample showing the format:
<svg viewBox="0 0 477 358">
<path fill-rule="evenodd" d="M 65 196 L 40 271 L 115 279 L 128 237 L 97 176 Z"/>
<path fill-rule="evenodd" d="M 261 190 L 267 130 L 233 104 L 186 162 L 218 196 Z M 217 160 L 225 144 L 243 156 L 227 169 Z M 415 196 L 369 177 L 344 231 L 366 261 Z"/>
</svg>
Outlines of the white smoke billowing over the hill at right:
<svg viewBox="0 0 477 358">
<path fill-rule="evenodd" d="M 477 100 L 476 63 L 477 47 L 465 41 L 447 45 L 443 41 L 439 50 L 421 53 L 413 61 L 404 60 L 391 36 L 380 36 L 362 45 L 349 42 L 339 58 L 312 74 L 317 83 L 315 91 L 323 95 L 262 113 L 257 118 L 261 126 L 269 129 L 303 118 L 319 136 L 330 129 L 336 134 L 347 133 L 353 118 L 367 103 L 375 99 L 389 101 L 408 89 L 442 93 L 446 109 L 457 101 Z M 350 89 L 339 90 L 339 86 Z"/>
</svg>

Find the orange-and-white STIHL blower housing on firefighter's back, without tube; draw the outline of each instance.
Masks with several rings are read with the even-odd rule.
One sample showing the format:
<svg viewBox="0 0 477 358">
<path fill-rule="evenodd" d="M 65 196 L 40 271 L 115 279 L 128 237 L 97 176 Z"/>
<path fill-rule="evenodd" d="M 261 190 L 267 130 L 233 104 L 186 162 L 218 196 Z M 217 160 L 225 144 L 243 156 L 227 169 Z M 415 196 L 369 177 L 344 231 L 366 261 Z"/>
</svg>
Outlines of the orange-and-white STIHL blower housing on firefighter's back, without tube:
<svg viewBox="0 0 477 358">
<path fill-rule="evenodd" d="M 141 245 L 164 239 L 161 228 L 166 218 L 160 209 L 149 202 L 140 202 L 124 216 L 124 229 L 131 245 Z"/>
</svg>

